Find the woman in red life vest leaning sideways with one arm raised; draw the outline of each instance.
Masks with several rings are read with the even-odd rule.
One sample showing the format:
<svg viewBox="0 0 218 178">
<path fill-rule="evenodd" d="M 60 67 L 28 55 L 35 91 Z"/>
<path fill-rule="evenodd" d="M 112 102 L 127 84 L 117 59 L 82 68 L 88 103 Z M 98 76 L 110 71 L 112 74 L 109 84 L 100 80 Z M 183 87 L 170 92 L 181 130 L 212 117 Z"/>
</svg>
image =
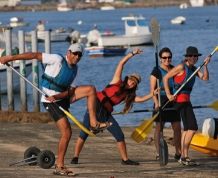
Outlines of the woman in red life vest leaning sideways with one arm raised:
<svg viewBox="0 0 218 178">
<path fill-rule="evenodd" d="M 127 54 L 117 65 L 114 76 L 108 86 L 104 88 L 103 91 L 97 92 L 97 120 L 99 122 L 109 122 L 112 123 L 107 130 L 113 135 L 117 141 L 117 147 L 121 156 L 121 164 L 123 165 L 139 165 L 138 162 L 128 159 L 126 144 L 124 139 L 124 134 L 120 128 L 118 122 L 113 118 L 111 112 L 113 111 L 113 106 L 118 105 L 121 102 L 125 103 L 123 111 L 127 113 L 133 102 L 144 102 L 153 97 L 153 94 L 149 93 L 144 96 L 136 96 L 136 89 L 141 81 L 141 77 L 138 74 L 128 75 L 122 80 L 123 67 L 126 62 L 131 59 L 134 55 L 142 53 L 140 49 L 134 50 L 132 53 Z M 89 128 L 89 115 L 88 112 L 84 116 L 83 124 Z M 71 164 L 78 164 L 78 157 L 83 148 L 83 145 L 87 139 L 88 135 L 83 131 L 80 132 L 80 136 L 77 139 L 75 145 L 74 157 Z"/>
</svg>

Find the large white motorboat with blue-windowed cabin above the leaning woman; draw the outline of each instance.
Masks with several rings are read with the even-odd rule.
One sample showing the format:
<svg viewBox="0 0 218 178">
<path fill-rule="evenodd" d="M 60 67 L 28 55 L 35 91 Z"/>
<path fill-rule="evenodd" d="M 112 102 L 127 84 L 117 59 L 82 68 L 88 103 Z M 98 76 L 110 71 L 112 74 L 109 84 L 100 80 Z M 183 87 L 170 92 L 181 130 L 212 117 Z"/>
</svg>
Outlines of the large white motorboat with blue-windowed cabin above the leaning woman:
<svg viewBox="0 0 218 178">
<path fill-rule="evenodd" d="M 122 17 L 125 25 L 124 35 L 101 36 L 98 46 L 136 46 L 152 44 L 149 26 L 142 16 Z"/>
</svg>

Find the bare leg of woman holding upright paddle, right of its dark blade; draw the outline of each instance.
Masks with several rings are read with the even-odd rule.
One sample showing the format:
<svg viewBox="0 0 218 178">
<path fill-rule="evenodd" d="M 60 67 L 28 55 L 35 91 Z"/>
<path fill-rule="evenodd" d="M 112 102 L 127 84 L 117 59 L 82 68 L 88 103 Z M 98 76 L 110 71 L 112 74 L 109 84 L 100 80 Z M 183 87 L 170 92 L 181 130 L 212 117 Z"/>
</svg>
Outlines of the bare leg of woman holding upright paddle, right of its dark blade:
<svg viewBox="0 0 218 178">
<path fill-rule="evenodd" d="M 180 122 L 172 122 L 174 145 L 177 155 L 181 154 L 181 124 Z"/>
</svg>

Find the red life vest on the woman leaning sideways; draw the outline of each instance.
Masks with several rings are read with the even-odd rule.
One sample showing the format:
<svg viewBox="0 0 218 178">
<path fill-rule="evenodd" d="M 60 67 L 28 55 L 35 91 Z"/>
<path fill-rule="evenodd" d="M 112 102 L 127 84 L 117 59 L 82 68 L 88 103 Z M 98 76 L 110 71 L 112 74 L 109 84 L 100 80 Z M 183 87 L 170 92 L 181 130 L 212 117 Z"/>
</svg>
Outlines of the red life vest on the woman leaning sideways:
<svg viewBox="0 0 218 178">
<path fill-rule="evenodd" d="M 108 112 L 112 112 L 113 106 L 121 103 L 126 98 L 127 92 L 125 91 L 117 95 L 120 92 L 121 84 L 122 81 L 120 80 L 115 84 L 108 85 L 103 91 L 97 92 L 98 100 Z"/>
</svg>

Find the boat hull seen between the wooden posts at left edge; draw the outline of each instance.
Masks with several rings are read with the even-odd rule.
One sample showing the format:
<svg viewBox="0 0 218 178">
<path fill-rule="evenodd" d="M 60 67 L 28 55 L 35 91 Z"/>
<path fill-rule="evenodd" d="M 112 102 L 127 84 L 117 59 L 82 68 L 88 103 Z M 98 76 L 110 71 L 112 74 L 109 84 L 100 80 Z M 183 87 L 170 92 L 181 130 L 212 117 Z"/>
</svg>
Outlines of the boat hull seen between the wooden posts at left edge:
<svg viewBox="0 0 218 178">
<path fill-rule="evenodd" d="M 14 62 L 13 67 L 19 72 L 19 62 Z M 26 62 L 26 76 L 29 76 L 32 72 L 32 61 Z M 19 91 L 20 77 L 13 72 L 13 90 L 14 92 Z M 0 66 L 0 94 L 7 93 L 7 66 Z"/>
</svg>

